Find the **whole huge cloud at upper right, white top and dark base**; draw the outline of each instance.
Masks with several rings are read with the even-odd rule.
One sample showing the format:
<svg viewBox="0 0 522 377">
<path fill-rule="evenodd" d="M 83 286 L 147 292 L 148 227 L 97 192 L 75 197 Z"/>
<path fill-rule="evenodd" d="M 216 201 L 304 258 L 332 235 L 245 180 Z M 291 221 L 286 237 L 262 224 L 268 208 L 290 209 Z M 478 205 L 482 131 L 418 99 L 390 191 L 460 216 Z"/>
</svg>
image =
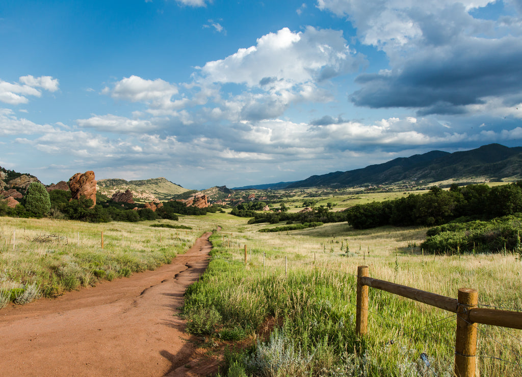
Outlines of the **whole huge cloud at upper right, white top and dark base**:
<svg viewBox="0 0 522 377">
<path fill-rule="evenodd" d="M 488 96 L 522 93 L 518 27 L 507 25 L 505 16 L 472 16 L 490 3 L 318 0 L 317 6 L 347 17 L 361 41 L 389 59 L 391 69 L 358 77 L 361 89 L 350 100 L 372 108 L 417 108 L 425 116 L 464 114 Z"/>
</svg>

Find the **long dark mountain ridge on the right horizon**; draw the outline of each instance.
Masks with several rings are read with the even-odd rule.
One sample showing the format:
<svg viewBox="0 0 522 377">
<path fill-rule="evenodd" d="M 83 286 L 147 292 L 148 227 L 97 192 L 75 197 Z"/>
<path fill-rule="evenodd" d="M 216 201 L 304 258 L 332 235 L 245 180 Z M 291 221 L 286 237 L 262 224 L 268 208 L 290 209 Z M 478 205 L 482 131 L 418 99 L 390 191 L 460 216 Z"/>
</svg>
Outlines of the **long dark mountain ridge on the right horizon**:
<svg viewBox="0 0 522 377">
<path fill-rule="evenodd" d="M 465 152 L 431 151 L 348 172 L 314 175 L 287 187 L 381 185 L 413 180 L 431 183 L 477 177 L 522 178 L 522 147 L 489 144 Z"/>
</svg>

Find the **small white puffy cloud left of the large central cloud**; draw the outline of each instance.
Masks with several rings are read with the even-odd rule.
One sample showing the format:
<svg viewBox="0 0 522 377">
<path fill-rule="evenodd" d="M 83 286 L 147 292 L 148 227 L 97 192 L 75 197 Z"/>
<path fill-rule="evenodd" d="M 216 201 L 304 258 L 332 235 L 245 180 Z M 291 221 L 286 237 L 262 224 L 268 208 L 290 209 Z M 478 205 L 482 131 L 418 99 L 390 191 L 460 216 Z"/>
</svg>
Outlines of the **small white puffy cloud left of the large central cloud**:
<svg viewBox="0 0 522 377">
<path fill-rule="evenodd" d="M 131 102 L 143 102 L 155 108 L 172 105 L 171 98 L 178 89 L 162 79 L 145 80 L 138 76 L 125 77 L 116 82 L 114 88 L 105 87 L 103 94 Z"/>
</svg>

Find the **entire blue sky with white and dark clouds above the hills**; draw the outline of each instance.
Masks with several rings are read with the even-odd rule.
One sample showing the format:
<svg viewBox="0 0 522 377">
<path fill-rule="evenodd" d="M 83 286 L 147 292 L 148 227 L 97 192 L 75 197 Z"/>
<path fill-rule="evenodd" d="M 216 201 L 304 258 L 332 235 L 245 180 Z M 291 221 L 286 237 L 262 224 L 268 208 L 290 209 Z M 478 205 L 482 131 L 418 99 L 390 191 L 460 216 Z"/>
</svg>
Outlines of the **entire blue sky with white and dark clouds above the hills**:
<svg viewBox="0 0 522 377">
<path fill-rule="evenodd" d="M 2 0 L 0 166 L 295 181 L 522 145 L 522 0 Z"/>
</svg>

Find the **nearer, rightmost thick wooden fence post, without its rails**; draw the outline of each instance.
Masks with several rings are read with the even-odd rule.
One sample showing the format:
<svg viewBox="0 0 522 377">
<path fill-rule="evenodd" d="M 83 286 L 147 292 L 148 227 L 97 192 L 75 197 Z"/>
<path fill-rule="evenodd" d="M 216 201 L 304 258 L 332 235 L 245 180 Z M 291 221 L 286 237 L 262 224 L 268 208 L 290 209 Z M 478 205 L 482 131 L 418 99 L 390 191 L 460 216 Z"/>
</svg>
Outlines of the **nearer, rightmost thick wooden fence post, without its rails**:
<svg viewBox="0 0 522 377">
<path fill-rule="evenodd" d="M 477 326 L 469 319 L 469 310 L 476 308 L 479 293 L 475 289 L 460 288 L 457 297 L 457 330 L 455 333 L 455 374 L 475 377 L 477 367 Z"/>
</svg>

